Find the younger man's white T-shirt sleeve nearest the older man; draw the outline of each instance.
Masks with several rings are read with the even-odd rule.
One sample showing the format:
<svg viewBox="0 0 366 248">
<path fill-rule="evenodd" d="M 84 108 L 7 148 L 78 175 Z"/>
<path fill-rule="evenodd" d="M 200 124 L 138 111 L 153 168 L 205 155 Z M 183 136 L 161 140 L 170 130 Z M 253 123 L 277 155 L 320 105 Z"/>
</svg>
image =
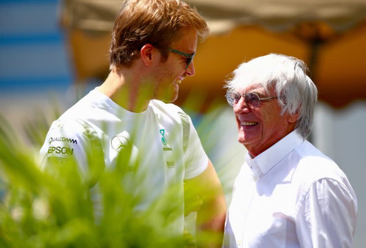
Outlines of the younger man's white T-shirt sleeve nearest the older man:
<svg viewBox="0 0 366 248">
<path fill-rule="evenodd" d="M 187 148 L 184 152 L 184 179 L 191 179 L 201 174 L 207 168 L 209 158 L 203 150 L 201 141 L 190 117 L 187 117 L 190 127 Z"/>
</svg>

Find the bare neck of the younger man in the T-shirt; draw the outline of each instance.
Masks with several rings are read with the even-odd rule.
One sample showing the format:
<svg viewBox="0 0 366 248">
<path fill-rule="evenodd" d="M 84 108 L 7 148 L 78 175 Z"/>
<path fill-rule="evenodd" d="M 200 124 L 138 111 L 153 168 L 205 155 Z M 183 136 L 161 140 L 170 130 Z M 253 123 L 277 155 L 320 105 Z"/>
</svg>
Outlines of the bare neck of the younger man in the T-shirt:
<svg viewBox="0 0 366 248">
<path fill-rule="evenodd" d="M 112 70 L 98 90 L 122 108 L 139 113 L 147 109 L 152 99 L 141 81 L 128 69 Z"/>
</svg>

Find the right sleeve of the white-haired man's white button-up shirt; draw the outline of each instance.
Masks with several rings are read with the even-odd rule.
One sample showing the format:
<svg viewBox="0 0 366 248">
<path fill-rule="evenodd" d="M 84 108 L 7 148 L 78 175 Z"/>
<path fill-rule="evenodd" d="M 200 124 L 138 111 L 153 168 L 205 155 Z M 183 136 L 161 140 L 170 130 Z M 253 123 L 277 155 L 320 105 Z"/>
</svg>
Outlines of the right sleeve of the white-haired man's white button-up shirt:
<svg viewBox="0 0 366 248">
<path fill-rule="evenodd" d="M 353 247 L 357 199 L 336 180 L 313 183 L 295 219 L 301 247 Z"/>
</svg>

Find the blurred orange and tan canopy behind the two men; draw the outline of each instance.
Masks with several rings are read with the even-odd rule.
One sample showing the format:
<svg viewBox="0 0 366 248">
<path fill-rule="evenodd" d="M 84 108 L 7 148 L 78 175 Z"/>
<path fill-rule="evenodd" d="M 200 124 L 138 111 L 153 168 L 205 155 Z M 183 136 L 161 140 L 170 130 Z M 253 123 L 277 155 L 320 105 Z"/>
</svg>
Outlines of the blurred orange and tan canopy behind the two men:
<svg viewBox="0 0 366 248">
<path fill-rule="evenodd" d="M 63 23 L 79 81 L 107 75 L 110 31 L 121 2 L 65 1 Z M 183 81 L 180 101 L 190 91 L 224 101 L 222 86 L 230 73 L 241 62 L 269 53 L 305 61 L 319 100 L 342 107 L 366 99 L 366 0 L 186 2 L 197 7 L 213 33 L 198 44 L 196 74 Z"/>
</svg>

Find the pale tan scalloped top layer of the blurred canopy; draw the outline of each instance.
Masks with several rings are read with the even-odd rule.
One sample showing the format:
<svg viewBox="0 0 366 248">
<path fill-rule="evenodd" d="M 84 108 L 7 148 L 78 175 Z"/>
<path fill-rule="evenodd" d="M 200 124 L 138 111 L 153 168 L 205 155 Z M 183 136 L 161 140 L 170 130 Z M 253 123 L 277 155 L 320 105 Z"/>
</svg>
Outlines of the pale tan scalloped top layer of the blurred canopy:
<svg viewBox="0 0 366 248">
<path fill-rule="evenodd" d="M 304 21 L 323 21 L 344 31 L 366 16 L 366 0 L 186 0 L 209 22 L 213 33 L 241 25 L 285 31 Z M 111 31 L 123 0 L 65 0 L 67 25 L 84 31 Z"/>
</svg>

